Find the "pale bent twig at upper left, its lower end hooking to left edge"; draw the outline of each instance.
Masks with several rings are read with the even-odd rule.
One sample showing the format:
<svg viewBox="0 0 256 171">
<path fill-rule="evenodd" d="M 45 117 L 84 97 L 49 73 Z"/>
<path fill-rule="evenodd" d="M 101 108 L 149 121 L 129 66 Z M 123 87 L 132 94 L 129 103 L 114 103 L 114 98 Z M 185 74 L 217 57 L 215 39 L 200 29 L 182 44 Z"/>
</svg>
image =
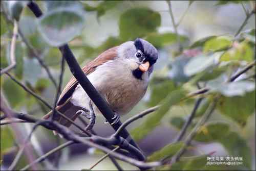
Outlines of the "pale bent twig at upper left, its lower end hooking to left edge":
<svg viewBox="0 0 256 171">
<path fill-rule="evenodd" d="M 10 61 L 11 64 L 7 66 L 6 68 L 2 69 L 0 72 L 0 75 L 8 72 L 12 68 L 16 66 L 16 58 L 15 58 L 15 48 L 16 48 L 16 39 L 17 39 L 17 32 L 18 32 L 18 23 L 16 20 L 14 20 L 14 27 L 13 27 L 13 35 L 12 35 L 12 41 L 11 41 L 11 52 L 10 52 Z"/>
</svg>

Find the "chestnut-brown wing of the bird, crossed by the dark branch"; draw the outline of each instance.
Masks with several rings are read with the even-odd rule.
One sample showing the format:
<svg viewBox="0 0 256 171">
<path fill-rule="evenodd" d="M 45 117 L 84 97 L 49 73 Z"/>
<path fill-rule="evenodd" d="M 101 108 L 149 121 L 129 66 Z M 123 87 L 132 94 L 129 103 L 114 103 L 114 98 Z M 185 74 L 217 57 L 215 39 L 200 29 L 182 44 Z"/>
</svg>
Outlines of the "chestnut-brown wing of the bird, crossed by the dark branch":
<svg viewBox="0 0 256 171">
<path fill-rule="evenodd" d="M 89 62 L 86 66 L 82 67 L 84 74 L 91 74 L 97 66 L 102 65 L 103 63 L 113 60 L 115 57 L 117 57 L 117 48 L 118 46 L 115 46 L 109 50 L 106 50 L 93 61 Z M 77 84 L 78 82 L 75 77 L 72 77 L 59 96 L 58 106 L 62 105 L 69 99 L 69 97 L 73 94 Z"/>
</svg>

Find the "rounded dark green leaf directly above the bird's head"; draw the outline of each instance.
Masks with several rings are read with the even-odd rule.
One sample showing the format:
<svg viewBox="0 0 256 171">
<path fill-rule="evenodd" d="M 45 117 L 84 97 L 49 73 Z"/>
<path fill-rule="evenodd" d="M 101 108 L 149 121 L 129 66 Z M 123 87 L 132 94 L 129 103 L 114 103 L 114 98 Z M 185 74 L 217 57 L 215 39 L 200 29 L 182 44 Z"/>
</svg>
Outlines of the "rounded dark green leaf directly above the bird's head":
<svg viewBox="0 0 256 171">
<path fill-rule="evenodd" d="M 156 32 L 161 24 L 161 16 L 147 8 L 134 8 L 125 11 L 119 20 L 120 37 L 123 41 L 144 37 Z"/>
</svg>

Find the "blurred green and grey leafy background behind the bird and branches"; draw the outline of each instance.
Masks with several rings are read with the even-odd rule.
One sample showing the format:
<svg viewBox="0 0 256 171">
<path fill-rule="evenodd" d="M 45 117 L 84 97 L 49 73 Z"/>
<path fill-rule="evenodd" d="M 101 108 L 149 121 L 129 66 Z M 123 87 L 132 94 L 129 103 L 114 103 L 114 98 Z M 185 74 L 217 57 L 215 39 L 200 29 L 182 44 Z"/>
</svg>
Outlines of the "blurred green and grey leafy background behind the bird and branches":
<svg viewBox="0 0 256 171">
<path fill-rule="evenodd" d="M 36 1 L 36 3 L 44 13 L 50 9 L 49 4 L 44 1 Z M 125 121 L 149 107 L 164 103 L 168 94 L 174 90 L 185 89 L 187 92 L 192 92 L 197 90 L 196 82 L 203 86 L 213 79 L 220 78 L 219 76 L 225 78 L 234 70 L 239 70 L 240 67 L 255 60 L 255 14 L 248 19 L 247 25 L 241 31 L 251 37 L 242 39 L 242 34 L 234 36 L 246 18 L 244 9 L 249 12 L 253 8 L 255 10 L 254 1 L 242 1 L 242 4 L 241 1 L 171 1 L 171 3 L 175 23 L 178 23 L 177 32 L 166 1 L 79 1 L 79 7 L 73 6 L 72 3 L 68 5 L 64 3 L 62 8 L 81 8 L 82 13 L 78 15 L 78 20 L 72 20 L 72 16 L 61 17 L 56 14 L 54 16 L 56 20 L 53 22 L 64 28 L 61 33 L 54 29 L 52 31 L 46 29 L 47 19 L 49 21 L 51 18 L 38 21 L 25 7 L 20 14 L 18 27 L 40 58 L 49 66 L 56 80 L 59 78 L 61 54 L 54 46 L 62 41 L 69 41 L 80 66 L 96 58 L 104 50 L 127 40 L 134 40 L 136 37 L 144 38 L 155 45 L 158 48 L 159 59 L 155 64 L 150 86 L 141 102 L 129 114 L 121 117 L 121 120 Z M 3 8 L 4 5 L 1 2 L 1 68 L 10 63 L 9 50 L 13 29 L 13 25 L 6 19 Z M 53 6 L 51 10 L 54 8 L 57 6 Z M 74 29 L 80 33 L 75 38 L 69 39 L 72 29 L 67 28 L 73 25 Z M 51 37 L 57 38 L 52 40 Z M 239 47 L 234 46 L 234 43 Z M 228 58 L 228 60 L 221 61 L 224 63 L 222 63 L 224 69 L 223 67 L 220 69 L 219 61 L 218 75 L 210 66 L 206 70 L 210 68 L 214 71 L 207 72 L 208 74 L 204 75 L 206 79 L 200 78 L 195 81 L 195 77 L 201 74 L 200 71 L 196 76 L 186 74 L 187 72 L 184 71 L 185 65 L 191 58 L 199 54 L 210 52 L 219 55 L 218 53 L 224 51 L 225 59 Z M 47 102 L 53 104 L 56 89 L 45 69 L 40 66 L 20 38 L 16 42 L 15 55 L 17 66 L 12 74 Z M 236 55 L 241 56 L 241 59 L 232 60 Z M 203 63 L 198 62 L 194 67 L 201 65 Z M 217 65 L 212 63 L 212 66 L 216 68 Z M 255 68 L 248 75 L 243 75 L 243 78 L 251 75 L 254 77 L 249 81 L 255 84 Z M 62 88 L 71 77 L 72 74 L 66 65 Z M 241 76 L 240 79 L 243 78 Z M 1 93 L 16 111 L 36 117 L 41 117 L 49 111 L 6 75 L 1 76 Z M 207 104 L 209 99 L 206 99 L 204 104 Z M 253 170 L 255 169 L 255 85 L 253 90 L 242 95 L 223 95 L 220 101 L 218 110 L 212 114 L 207 122 L 208 125 L 201 129 L 184 156 L 200 156 L 212 152 L 214 156 L 243 156 L 243 165 L 232 167 L 224 165 L 216 168 L 212 166 L 212 169 Z M 159 115 L 157 123 L 148 126 L 151 127 L 148 131 L 145 131 L 148 128 L 144 123 L 149 116 L 135 121 L 127 127 L 127 130 L 138 142 L 144 154 L 150 156 L 175 140 L 182 124 L 191 113 L 194 103 L 195 99 L 192 98 L 169 107 L 165 113 Z M 195 125 L 200 116 L 199 113 L 192 125 Z M 111 135 L 112 128 L 103 123 L 104 118 L 97 117 L 94 130 L 104 137 Z M 25 138 L 32 126 L 29 123 L 1 126 L 1 170 L 8 168 L 18 150 L 17 145 L 20 141 L 17 140 L 17 133 L 13 127 L 19 130 L 19 138 Z M 191 128 L 189 127 L 189 130 Z M 29 146 L 33 152 L 32 156 L 38 157 L 63 142 L 65 139 L 59 139 L 53 136 L 51 131 L 39 127 L 31 137 Z M 54 161 L 58 156 L 60 170 L 81 170 L 89 168 L 103 155 L 88 146 L 73 144 L 63 149 L 61 154 L 53 154 L 41 162 L 42 164 L 37 164 L 36 168 L 56 168 Z M 118 162 L 123 169 L 136 169 L 130 164 Z M 27 163 L 28 159 L 24 155 L 17 168 L 22 168 Z M 190 167 L 207 169 L 197 164 Z M 94 169 L 115 170 L 116 168 L 109 158 L 106 158 Z"/>
</svg>

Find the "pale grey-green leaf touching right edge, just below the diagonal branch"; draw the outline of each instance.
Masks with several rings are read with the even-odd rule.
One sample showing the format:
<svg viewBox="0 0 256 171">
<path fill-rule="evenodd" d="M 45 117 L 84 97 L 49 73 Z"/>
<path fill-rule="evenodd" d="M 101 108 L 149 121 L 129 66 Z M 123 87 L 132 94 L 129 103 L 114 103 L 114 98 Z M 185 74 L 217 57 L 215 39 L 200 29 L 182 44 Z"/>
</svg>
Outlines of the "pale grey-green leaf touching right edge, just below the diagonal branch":
<svg viewBox="0 0 256 171">
<path fill-rule="evenodd" d="M 220 92 L 224 96 L 244 95 L 246 92 L 251 92 L 255 89 L 255 82 L 250 81 L 236 81 L 231 83 L 209 82 L 208 87 L 210 92 Z"/>
</svg>

